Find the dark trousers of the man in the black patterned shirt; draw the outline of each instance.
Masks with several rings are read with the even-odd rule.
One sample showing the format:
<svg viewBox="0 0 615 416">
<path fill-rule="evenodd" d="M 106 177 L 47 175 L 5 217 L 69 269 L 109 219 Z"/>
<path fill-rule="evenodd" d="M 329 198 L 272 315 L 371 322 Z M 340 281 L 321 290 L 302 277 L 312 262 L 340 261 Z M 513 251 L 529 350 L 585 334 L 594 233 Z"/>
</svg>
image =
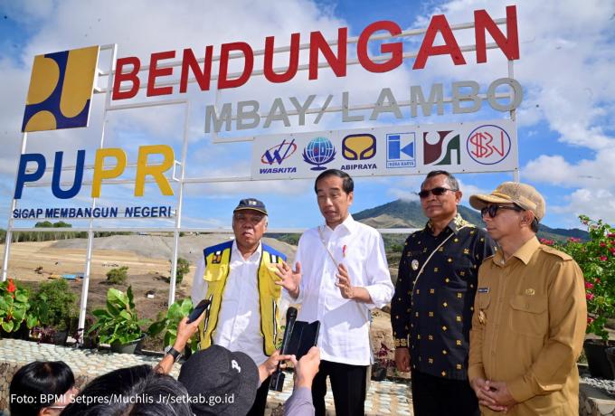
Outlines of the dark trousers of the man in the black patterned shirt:
<svg viewBox="0 0 615 416">
<path fill-rule="evenodd" d="M 468 381 L 412 372 L 414 416 L 479 416 L 478 399 Z"/>
</svg>

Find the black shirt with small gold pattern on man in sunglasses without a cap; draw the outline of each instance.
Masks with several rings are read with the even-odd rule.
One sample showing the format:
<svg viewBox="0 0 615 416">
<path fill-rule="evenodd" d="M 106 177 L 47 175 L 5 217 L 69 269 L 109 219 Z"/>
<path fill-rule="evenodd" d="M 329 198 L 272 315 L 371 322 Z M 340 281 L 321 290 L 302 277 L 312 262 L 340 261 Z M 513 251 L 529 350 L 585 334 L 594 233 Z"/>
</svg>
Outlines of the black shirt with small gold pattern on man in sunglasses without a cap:
<svg viewBox="0 0 615 416">
<path fill-rule="evenodd" d="M 459 213 L 437 236 L 428 222 L 408 237 L 391 302 L 391 322 L 395 347 L 410 347 L 412 371 L 468 379 L 478 267 L 494 252 L 495 243 L 487 232 Z"/>
</svg>

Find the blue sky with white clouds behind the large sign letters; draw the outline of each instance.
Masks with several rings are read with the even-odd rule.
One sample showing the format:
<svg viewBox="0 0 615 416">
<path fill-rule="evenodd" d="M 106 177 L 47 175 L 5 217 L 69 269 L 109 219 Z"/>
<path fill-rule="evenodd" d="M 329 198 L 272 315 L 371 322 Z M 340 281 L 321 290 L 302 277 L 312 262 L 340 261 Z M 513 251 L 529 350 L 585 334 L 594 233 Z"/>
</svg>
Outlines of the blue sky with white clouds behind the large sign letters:
<svg viewBox="0 0 615 416">
<path fill-rule="evenodd" d="M 105 4 L 84 0 L 19 2 L 0 0 L 0 227 L 9 219 L 15 175 L 21 152 L 21 125 L 33 57 L 91 45 L 118 44 L 118 58 L 137 56 L 146 65 L 153 52 L 185 48 L 203 53 L 213 45 L 214 54 L 222 43 L 245 42 L 253 50 L 264 48 L 267 36 L 274 35 L 276 46 L 288 45 L 291 33 L 301 33 L 307 43 L 310 32 L 320 31 L 326 39 L 336 37 L 337 29 L 347 27 L 350 37 L 358 36 L 368 24 L 391 20 L 403 30 L 425 28 L 434 14 L 444 14 L 449 24 L 473 21 L 473 11 L 485 9 L 496 18 L 506 16 L 506 5 L 516 5 L 520 59 L 514 63 L 514 78 L 524 89 L 517 110 L 519 175 L 522 182 L 534 185 L 546 200 L 543 222 L 551 227 L 580 227 L 579 214 L 615 222 L 615 2 L 605 0 L 454 0 L 448 2 L 373 1 L 261 1 L 229 0 L 211 2 L 164 0 L 109 0 Z M 473 31 L 455 33 L 459 45 L 473 43 Z M 404 52 L 416 52 L 422 37 L 403 43 Z M 438 41 L 437 41 L 438 42 Z M 491 42 L 487 37 L 487 43 Z M 371 52 L 377 54 L 377 43 Z M 355 46 L 348 46 L 349 59 Z M 307 80 L 299 72 L 291 81 L 273 85 L 262 77 L 251 77 L 241 88 L 200 91 L 190 84 L 185 94 L 164 99 L 187 99 L 185 106 L 112 111 L 103 121 L 104 96 L 92 100 L 90 126 L 37 132 L 28 135 L 26 153 L 42 153 L 48 165 L 53 155 L 64 152 L 64 163 L 74 164 L 78 149 L 86 149 L 86 165 L 93 164 L 104 127 L 105 147 L 121 147 L 128 163 L 136 163 L 138 148 L 165 144 L 181 159 L 185 117 L 188 142 L 185 175 L 188 178 L 245 177 L 251 172 L 251 143 L 214 144 L 204 129 L 205 107 L 219 102 L 258 100 L 268 109 L 275 97 L 306 99 L 316 94 L 314 104 L 322 103 L 331 93 L 341 96 L 350 91 L 353 102 L 374 102 L 383 88 L 393 90 L 399 100 L 409 99 L 412 85 L 429 89 L 440 82 L 449 88 L 453 81 L 476 80 L 481 89 L 507 76 L 507 62 L 498 50 L 487 52 L 487 63 L 476 63 L 474 52 L 464 52 L 467 65 L 455 66 L 448 56 L 432 57 L 423 70 L 412 70 L 413 59 L 405 60 L 394 71 L 374 74 L 360 65 L 349 66 L 345 77 L 336 78 L 328 68 L 319 71 L 318 80 Z M 283 66 L 287 55 L 276 56 Z M 100 52 L 99 67 L 109 65 L 109 52 Z M 302 52 L 299 63 L 307 61 Z M 255 69 L 262 66 L 257 59 Z M 236 63 L 235 63 L 236 64 Z M 236 69 L 231 67 L 231 71 Z M 214 73 L 217 68 L 214 68 Z M 175 71 L 174 73 L 177 73 Z M 145 75 L 142 78 L 145 79 Z M 97 85 L 106 87 L 107 78 Z M 176 89 L 176 87 L 175 87 Z M 138 99 L 147 101 L 143 91 Z M 133 101 L 134 102 L 134 101 Z M 287 101 L 288 102 L 288 101 Z M 123 104 L 123 102 L 120 102 Z M 407 112 L 407 109 L 405 109 Z M 368 113 L 367 113 L 368 114 Z M 307 118 L 303 127 L 285 128 L 274 122 L 271 128 L 249 133 L 234 131 L 222 137 L 262 134 L 288 134 L 344 128 L 383 127 L 394 124 L 450 123 L 506 118 L 484 106 L 477 113 L 454 115 L 445 107 L 442 116 L 419 118 L 379 118 L 346 126 L 339 113 L 326 114 L 318 125 Z M 66 176 L 64 176 L 66 175 Z M 71 180 L 71 171 L 62 180 Z M 86 177 L 91 171 L 86 173 Z M 43 180 L 51 181 L 46 175 Z M 122 178 L 134 179 L 135 169 L 128 167 Z M 468 196 L 488 193 L 497 184 L 512 180 L 510 173 L 458 175 Z M 417 201 L 422 176 L 355 178 L 355 201 L 351 213 L 388 203 L 398 198 Z M 99 206 L 164 205 L 174 206 L 175 196 L 163 196 L 153 184 L 145 196 L 133 196 L 134 184 L 102 185 Z M 317 209 L 312 180 L 232 181 L 187 184 L 184 191 L 182 225 L 193 228 L 230 227 L 232 209 L 241 198 L 252 196 L 266 203 L 270 229 L 306 228 L 322 222 Z M 28 187 L 20 208 L 90 206 L 90 187 L 83 186 L 71 200 L 59 200 L 50 187 Z M 71 221 L 75 226 L 86 222 Z M 29 227 L 33 221 L 15 221 Z M 169 227 L 169 220 L 100 220 L 98 227 Z"/>
</svg>

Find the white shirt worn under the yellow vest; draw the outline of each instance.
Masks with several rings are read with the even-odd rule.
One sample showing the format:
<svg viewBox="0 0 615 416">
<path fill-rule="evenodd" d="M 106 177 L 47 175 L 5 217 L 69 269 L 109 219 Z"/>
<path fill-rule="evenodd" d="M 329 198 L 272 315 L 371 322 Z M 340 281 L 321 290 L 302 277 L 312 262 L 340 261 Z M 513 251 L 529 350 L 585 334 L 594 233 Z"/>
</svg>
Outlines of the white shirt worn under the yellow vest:
<svg viewBox="0 0 615 416">
<path fill-rule="evenodd" d="M 213 344 L 231 351 L 241 351 L 260 365 L 267 360 L 263 352 L 263 336 L 260 332 L 260 302 L 257 273 L 260 266 L 262 245 L 243 260 L 241 251 L 232 241 L 231 271 L 222 293 L 222 305 L 218 325 L 213 331 Z M 205 298 L 207 282 L 203 279 L 205 259 L 201 257 L 194 272 L 192 300 L 196 305 Z"/>
</svg>

